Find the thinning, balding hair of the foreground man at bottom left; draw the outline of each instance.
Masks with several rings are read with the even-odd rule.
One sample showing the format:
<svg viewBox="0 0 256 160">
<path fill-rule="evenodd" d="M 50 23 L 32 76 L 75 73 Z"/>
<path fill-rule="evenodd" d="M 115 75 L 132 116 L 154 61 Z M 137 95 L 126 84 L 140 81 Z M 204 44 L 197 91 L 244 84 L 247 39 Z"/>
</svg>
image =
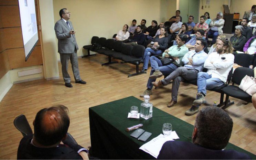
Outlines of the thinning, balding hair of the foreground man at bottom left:
<svg viewBox="0 0 256 160">
<path fill-rule="evenodd" d="M 53 116 L 55 121 L 49 125 L 49 120 L 47 121 L 46 117 L 51 114 L 55 115 Z M 55 145 L 66 136 L 69 125 L 70 118 L 67 107 L 55 105 L 41 109 L 35 116 L 34 138 L 41 145 Z"/>
</svg>

